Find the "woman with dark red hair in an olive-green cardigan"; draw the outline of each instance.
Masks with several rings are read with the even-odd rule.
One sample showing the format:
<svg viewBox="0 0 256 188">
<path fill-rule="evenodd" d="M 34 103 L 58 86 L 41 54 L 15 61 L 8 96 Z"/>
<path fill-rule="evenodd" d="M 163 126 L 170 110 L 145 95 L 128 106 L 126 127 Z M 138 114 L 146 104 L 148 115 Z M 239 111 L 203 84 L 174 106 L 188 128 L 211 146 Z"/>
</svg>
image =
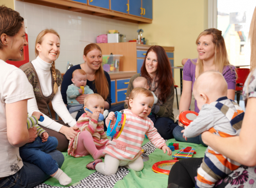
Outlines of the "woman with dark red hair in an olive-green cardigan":
<svg viewBox="0 0 256 188">
<path fill-rule="evenodd" d="M 133 75 L 130 79 L 126 97 L 130 95 L 133 89 L 134 79 L 139 76 L 147 79 L 149 90 L 153 91 L 158 98 L 157 103 L 152 107 L 150 119 L 164 139 L 173 138 L 172 131 L 177 126 L 174 123 L 172 109 L 174 80 L 170 62 L 163 47 L 152 46 L 148 49 L 141 67 L 141 73 Z M 125 104 L 125 108 L 127 108 L 127 104 Z"/>
</svg>

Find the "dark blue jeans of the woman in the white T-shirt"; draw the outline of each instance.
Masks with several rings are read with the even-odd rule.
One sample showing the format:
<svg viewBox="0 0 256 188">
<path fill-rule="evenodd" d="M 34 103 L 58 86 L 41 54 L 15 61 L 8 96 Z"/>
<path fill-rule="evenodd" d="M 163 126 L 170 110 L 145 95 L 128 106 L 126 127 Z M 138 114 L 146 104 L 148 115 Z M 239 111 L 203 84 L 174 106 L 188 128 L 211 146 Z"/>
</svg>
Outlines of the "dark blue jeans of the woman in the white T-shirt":
<svg viewBox="0 0 256 188">
<path fill-rule="evenodd" d="M 49 155 L 57 161 L 59 168 L 61 168 L 64 162 L 63 154 L 53 150 L 49 152 Z M 38 166 L 23 162 L 23 167 L 18 172 L 0 180 L 0 188 L 32 188 L 43 183 L 49 177 Z"/>
</svg>

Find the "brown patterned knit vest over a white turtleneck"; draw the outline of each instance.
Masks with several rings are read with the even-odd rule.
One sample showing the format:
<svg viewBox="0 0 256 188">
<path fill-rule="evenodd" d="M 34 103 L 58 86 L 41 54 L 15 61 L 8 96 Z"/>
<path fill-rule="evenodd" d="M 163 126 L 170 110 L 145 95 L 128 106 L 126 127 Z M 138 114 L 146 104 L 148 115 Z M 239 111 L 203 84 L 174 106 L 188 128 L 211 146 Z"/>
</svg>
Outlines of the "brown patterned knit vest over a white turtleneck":
<svg viewBox="0 0 256 188">
<path fill-rule="evenodd" d="M 36 97 L 36 103 L 37 103 L 38 109 L 40 110 L 40 112 L 42 112 L 43 114 L 50 117 L 49 111 L 48 111 L 48 108 L 47 108 L 47 104 L 50 103 L 50 101 L 52 100 L 52 98 L 55 95 L 54 94 L 54 89 L 53 89 L 54 78 L 53 78 L 53 75 L 52 75 L 52 71 L 51 71 L 51 75 L 52 75 L 52 93 L 51 93 L 51 95 L 45 97 L 43 95 L 42 88 L 41 88 L 41 85 L 40 85 L 40 82 L 39 82 L 39 78 L 37 76 L 37 73 L 36 73 L 36 70 L 35 70 L 33 64 L 31 62 L 28 62 L 28 63 L 20 66 L 20 69 L 23 70 L 23 72 L 26 74 L 26 76 L 28 78 L 28 81 L 33 86 L 33 90 L 34 90 L 34 94 L 35 94 L 35 97 Z M 60 84 L 62 82 L 62 76 L 61 76 L 61 73 L 60 73 L 59 70 L 57 70 L 57 69 L 55 69 L 55 70 L 56 70 L 56 77 L 57 77 L 56 83 L 57 83 L 58 86 L 60 86 Z"/>
</svg>

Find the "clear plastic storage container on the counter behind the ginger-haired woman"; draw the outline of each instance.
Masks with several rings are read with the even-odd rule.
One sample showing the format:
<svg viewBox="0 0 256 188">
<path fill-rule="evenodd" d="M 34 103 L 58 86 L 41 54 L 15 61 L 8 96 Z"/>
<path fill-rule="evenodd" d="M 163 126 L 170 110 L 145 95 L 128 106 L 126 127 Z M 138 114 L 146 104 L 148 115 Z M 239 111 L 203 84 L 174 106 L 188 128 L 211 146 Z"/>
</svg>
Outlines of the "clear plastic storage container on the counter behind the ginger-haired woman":
<svg viewBox="0 0 256 188">
<path fill-rule="evenodd" d="M 123 55 L 102 55 L 103 70 L 106 72 L 118 72 L 122 57 Z"/>
</svg>

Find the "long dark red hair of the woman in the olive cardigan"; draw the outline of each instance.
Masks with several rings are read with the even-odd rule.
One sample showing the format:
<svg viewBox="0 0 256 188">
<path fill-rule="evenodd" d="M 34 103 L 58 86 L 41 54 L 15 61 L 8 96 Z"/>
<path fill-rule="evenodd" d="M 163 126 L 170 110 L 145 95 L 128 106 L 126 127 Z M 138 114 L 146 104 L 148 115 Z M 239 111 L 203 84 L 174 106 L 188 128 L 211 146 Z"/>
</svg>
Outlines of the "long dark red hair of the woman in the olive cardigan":
<svg viewBox="0 0 256 188">
<path fill-rule="evenodd" d="M 166 99 L 171 92 L 171 87 L 174 85 L 174 79 L 172 77 L 172 69 L 171 69 L 170 61 L 163 47 L 161 46 L 150 47 L 146 53 L 146 57 L 141 67 L 141 76 L 147 78 L 147 80 L 152 81 L 152 78 L 148 74 L 146 65 L 145 65 L 148 52 L 150 51 L 154 51 L 157 56 L 157 72 L 156 72 L 156 77 L 158 78 L 157 87 L 160 91 L 159 99 L 164 103 L 166 102 Z"/>
</svg>

